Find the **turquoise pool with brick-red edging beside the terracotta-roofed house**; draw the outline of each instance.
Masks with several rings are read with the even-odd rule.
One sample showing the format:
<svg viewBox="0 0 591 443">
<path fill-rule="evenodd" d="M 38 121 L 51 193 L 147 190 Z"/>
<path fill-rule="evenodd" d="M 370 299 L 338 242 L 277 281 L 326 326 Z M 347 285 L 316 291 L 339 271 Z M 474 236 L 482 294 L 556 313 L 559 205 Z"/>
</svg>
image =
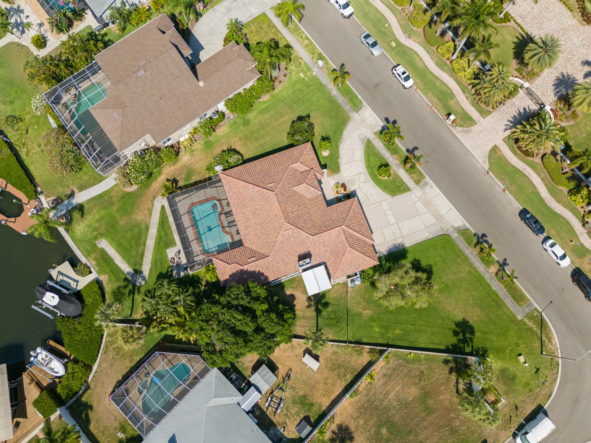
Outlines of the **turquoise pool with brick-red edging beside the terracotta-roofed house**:
<svg viewBox="0 0 591 443">
<path fill-rule="evenodd" d="M 222 208 L 216 200 L 206 201 L 191 208 L 191 217 L 203 252 L 212 254 L 230 247 L 232 238 L 223 232 L 217 217 Z"/>
</svg>

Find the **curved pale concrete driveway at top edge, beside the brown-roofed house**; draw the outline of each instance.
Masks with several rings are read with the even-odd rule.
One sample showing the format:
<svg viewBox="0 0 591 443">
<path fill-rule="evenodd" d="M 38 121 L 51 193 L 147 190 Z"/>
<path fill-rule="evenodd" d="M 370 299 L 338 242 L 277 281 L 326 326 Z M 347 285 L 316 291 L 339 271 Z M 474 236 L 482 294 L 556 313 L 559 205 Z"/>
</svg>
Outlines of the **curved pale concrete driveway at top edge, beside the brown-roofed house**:
<svg viewBox="0 0 591 443">
<path fill-rule="evenodd" d="M 203 61 L 223 48 L 223 38 L 228 32 L 226 24 L 230 18 L 247 22 L 277 4 L 278 0 L 224 0 L 213 6 L 193 28 L 189 40 L 189 47 L 193 50 L 191 58 Z"/>
</svg>

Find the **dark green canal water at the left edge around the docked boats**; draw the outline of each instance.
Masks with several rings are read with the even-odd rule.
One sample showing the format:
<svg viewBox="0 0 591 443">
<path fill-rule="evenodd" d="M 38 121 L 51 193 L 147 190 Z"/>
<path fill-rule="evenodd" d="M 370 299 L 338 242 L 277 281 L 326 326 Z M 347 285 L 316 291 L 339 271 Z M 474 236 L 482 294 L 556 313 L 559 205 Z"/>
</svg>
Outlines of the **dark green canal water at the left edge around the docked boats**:
<svg viewBox="0 0 591 443">
<path fill-rule="evenodd" d="M 28 360 L 31 350 L 60 337 L 56 321 L 31 308 L 48 269 L 77 262 L 57 230 L 54 236 L 57 243 L 50 243 L 0 225 L 0 364 Z"/>
</svg>

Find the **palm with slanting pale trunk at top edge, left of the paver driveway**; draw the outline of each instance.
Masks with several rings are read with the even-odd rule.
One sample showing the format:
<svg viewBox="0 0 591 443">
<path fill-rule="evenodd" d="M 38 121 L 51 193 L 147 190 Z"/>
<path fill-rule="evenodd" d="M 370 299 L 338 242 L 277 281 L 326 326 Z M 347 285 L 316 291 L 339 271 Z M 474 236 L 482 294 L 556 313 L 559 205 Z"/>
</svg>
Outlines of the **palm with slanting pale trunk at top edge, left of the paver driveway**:
<svg viewBox="0 0 591 443">
<path fill-rule="evenodd" d="M 456 18 L 452 20 L 452 26 L 460 27 L 462 41 L 457 45 L 456 52 L 452 60 L 457 58 L 460 49 L 470 35 L 474 35 L 478 40 L 486 32 L 499 33 L 499 30 L 492 22 L 493 18 L 498 17 L 501 12 L 501 4 L 488 0 L 463 0 L 456 12 Z"/>
</svg>

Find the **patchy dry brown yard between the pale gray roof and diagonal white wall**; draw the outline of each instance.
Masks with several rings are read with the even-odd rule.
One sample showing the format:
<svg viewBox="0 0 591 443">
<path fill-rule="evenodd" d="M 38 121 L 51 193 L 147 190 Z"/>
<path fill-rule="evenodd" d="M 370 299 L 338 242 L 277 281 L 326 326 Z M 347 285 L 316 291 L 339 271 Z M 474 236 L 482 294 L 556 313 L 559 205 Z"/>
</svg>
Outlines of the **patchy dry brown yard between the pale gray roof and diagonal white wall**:
<svg viewBox="0 0 591 443">
<path fill-rule="evenodd" d="M 269 357 L 269 369 L 276 369 L 279 379 L 266 393 L 263 393 L 254 413 L 261 421 L 261 427 L 267 430 L 285 427 L 283 434 L 288 438 L 297 438 L 296 425 L 304 417 L 309 417 L 309 424 L 316 426 L 335 403 L 348 391 L 353 382 L 362 376 L 371 365 L 366 354 L 356 354 L 343 351 L 340 346 L 327 346 L 319 357 L 320 366 L 316 372 L 301 361 L 306 346 L 301 342 L 284 344 L 277 348 Z M 237 366 L 245 376 L 251 374 L 251 369 L 257 357 L 249 355 L 241 359 Z M 259 366 L 254 366 L 258 369 Z M 267 397 L 291 368 L 290 380 L 285 391 L 285 403 L 281 412 L 265 412 Z"/>
</svg>

